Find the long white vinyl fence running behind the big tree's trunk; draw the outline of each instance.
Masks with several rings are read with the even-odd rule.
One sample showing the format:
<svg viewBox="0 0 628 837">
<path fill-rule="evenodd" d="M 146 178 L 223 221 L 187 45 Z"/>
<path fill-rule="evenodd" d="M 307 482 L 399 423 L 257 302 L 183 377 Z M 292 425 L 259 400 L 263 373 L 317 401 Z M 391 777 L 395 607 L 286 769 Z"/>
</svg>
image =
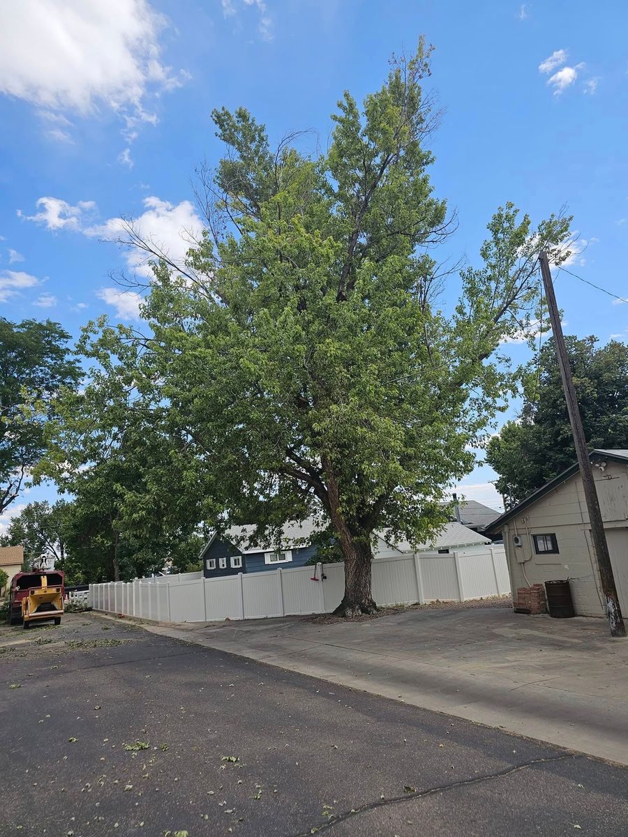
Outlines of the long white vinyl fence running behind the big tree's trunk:
<svg viewBox="0 0 628 837">
<path fill-rule="evenodd" d="M 326 578 L 322 579 L 322 576 Z M 330 613 L 342 600 L 344 564 L 203 578 L 203 573 L 90 584 L 95 610 L 157 622 L 212 622 Z M 463 555 L 400 555 L 373 561 L 380 605 L 461 602 L 510 593 L 503 547 Z"/>
</svg>

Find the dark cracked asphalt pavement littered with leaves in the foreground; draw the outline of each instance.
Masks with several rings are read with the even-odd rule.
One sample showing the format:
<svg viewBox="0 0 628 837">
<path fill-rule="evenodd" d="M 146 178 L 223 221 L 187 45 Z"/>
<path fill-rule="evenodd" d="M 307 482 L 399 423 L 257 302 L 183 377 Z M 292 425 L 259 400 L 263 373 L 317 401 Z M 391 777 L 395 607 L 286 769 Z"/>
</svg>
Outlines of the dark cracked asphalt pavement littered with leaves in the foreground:
<svg viewBox="0 0 628 837">
<path fill-rule="evenodd" d="M 123 620 L 0 629 L 0 834 L 628 834 L 628 771 Z"/>
</svg>

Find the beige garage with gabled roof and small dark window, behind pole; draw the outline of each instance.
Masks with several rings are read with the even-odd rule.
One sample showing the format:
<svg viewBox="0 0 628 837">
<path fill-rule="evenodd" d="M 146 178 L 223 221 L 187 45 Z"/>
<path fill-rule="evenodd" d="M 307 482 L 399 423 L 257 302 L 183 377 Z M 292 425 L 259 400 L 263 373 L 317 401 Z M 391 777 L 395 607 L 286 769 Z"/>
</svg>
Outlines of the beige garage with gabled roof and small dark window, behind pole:
<svg viewBox="0 0 628 837">
<path fill-rule="evenodd" d="M 594 450 L 589 455 L 620 607 L 627 616 L 628 450 Z M 517 588 L 569 578 L 576 614 L 605 615 L 578 465 L 543 485 L 487 529 L 494 536 L 500 531 L 513 600 Z"/>
</svg>

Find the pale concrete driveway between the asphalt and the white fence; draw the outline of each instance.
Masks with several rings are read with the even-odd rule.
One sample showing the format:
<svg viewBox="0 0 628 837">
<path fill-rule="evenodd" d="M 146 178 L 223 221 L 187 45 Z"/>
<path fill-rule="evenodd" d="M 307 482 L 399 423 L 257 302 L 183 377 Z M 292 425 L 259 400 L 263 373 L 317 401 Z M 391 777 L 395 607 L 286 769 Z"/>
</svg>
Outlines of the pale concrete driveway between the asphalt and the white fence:
<svg viewBox="0 0 628 837">
<path fill-rule="evenodd" d="M 419 608 L 145 627 L 628 764 L 628 640 L 602 619 Z"/>
</svg>

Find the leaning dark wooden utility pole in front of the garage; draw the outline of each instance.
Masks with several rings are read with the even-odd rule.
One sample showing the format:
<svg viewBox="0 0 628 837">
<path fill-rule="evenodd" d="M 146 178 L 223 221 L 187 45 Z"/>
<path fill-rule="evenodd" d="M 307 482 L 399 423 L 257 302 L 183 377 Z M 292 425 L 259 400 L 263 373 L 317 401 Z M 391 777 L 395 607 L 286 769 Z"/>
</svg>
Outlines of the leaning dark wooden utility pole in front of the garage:
<svg viewBox="0 0 628 837">
<path fill-rule="evenodd" d="M 610 635 L 625 636 L 624 619 L 622 619 L 620 603 L 617 598 L 613 567 L 610 563 L 609 547 L 606 543 L 604 522 L 602 521 L 602 513 L 600 511 L 600 501 L 598 500 L 597 491 L 595 490 L 593 469 L 591 468 L 591 460 L 589 459 L 589 449 L 587 448 L 586 439 L 584 439 L 584 429 L 582 427 L 580 409 L 576 399 L 574 378 L 571 375 L 569 357 L 567 357 L 567 349 L 564 344 L 563 326 L 560 324 L 559 308 L 556 305 L 556 296 L 553 292 L 552 274 L 549 270 L 548 254 L 542 250 L 538 255 L 538 260 L 541 263 L 541 275 L 543 276 L 543 285 L 545 287 L 545 298 L 548 300 L 549 319 L 552 323 L 553 339 L 556 344 L 556 355 L 559 359 L 560 377 L 563 379 L 564 397 L 567 402 L 569 423 L 571 424 L 571 432 L 574 434 L 574 445 L 576 455 L 578 456 L 580 477 L 584 488 L 584 498 L 586 500 L 587 509 L 589 510 L 591 537 L 593 539 L 595 557 L 597 558 L 598 568 L 600 570 L 600 583 L 602 585 L 602 593 L 604 595 L 606 615 L 608 616 L 610 624 Z"/>
</svg>

